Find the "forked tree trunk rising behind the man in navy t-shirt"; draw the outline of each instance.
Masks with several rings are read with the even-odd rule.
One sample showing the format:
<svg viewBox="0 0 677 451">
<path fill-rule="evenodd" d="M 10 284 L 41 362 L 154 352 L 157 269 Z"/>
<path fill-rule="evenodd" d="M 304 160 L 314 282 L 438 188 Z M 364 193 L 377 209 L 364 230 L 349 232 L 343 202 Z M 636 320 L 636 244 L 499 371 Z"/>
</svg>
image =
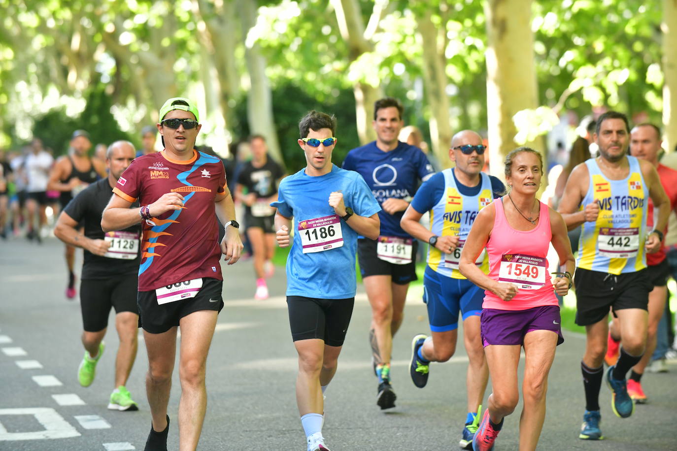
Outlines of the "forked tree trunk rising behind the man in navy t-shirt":
<svg viewBox="0 0 677 451">
<path fill-rule="evenodd" d="M 370 20 L 370 36 L 376 28 L 380 17 L 385 14 L 387 1 L 375 1 Z M 366 39 L 366 28 L 362 20 L 362 11 L 357 0 L 331 0 L 336 13 L 336 21 L 339 23 L 341 36 L 348 46 L 349 60 L 354 62 L 363 53 L 373 51 L 373 43 Z M 374 102 L 383 96 L 380 87 L 374 87 L 361 80 L 353 87 L 355 93 L 355 117 L 357 120 L 357 136 L 359 142 L 366 144 L 376 139 L 376 132 L 372 127 L 374 120 Z"/>
</svg>

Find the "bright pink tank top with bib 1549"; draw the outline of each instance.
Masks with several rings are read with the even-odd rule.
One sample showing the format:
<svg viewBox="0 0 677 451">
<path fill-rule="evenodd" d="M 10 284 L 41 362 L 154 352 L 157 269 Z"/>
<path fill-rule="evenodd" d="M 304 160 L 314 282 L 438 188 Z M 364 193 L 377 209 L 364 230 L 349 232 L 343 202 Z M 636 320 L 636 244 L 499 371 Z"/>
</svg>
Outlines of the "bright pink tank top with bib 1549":
<svg viewBox="0 0 677 451">
<path fill-rule="evenodd" d="M 547 256 L 552 240 L 548 206 L 539 201 L 538 226 L 530 231 L 519 231 L 508 224 L 503 199 L 500 197 L 494 201 L 494 229 L 487 241 L 489 277 L 495 281 L 514 283 L 518 291 L 515 298 L 504 301 L 485 290 L 482 308 L 525 310 L 558 305 L 548 272 Z"/>
</svg>

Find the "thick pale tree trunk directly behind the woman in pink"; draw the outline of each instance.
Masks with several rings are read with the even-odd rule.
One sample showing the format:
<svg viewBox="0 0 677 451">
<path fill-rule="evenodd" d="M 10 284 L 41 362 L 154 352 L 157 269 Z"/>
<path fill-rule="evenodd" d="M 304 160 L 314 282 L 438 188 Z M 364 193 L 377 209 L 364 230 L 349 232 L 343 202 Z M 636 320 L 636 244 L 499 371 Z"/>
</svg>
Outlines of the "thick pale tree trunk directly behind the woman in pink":
<svg viewBox="0 0 677 451">
<path fill-rule="evenodd" d="M 512 116 L 527 108 L 536 109 L 538 86 L 533 62 L 531 0 L 487 0 L 487 127 L 489 169 L 504 179 L 503 160 L 517 147 L 517 128 Z M 544 140 L 526 143 L 540 151 L 547 167 Z M 547 181 L 544 181 L 544 184 Z"/>
</svg>

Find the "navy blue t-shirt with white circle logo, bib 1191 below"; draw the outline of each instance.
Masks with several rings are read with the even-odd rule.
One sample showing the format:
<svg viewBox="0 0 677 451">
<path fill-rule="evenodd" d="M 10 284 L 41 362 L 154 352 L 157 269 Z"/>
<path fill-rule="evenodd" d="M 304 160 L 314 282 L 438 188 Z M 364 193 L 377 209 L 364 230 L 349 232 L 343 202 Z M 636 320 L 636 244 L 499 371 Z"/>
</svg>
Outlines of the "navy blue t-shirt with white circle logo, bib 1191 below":
<svg viewBox="0 0 677 451">
<path fill-rule="evenodd" d="M 389 152 L 376 147 L 376 141 L 357 147 L 349 151 L 343 169 L 359 172 L 379 205 L 391 197 L 414 197 L 418 180 L 425 181 L 435 173 L 421 149 L 401 142 Z M 403 214 L 403 211 L 395 214 L 379 212 L 380 235 L 410 238 L 411 235 L 399 227 Z"/>
</svg>

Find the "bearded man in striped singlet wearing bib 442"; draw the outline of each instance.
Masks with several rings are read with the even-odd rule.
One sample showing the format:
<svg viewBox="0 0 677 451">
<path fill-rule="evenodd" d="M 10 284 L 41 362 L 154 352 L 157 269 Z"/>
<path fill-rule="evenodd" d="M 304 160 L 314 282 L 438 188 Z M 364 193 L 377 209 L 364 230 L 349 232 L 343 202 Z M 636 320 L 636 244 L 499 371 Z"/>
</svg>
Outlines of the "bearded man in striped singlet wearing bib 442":
<svg viewBox="0 0 677 451">
<path fill-rule="evenodd" d="M 670 201 L 653 165 L 627 155 L 628 118 L 609 111 L 597 120 L 594 139 L 600 155 L 576 166 L 560 203 L 569 230 L 582 227 L 576 272 L 576 323 L 586 327 L 581 362 L 586 412 L 579 437 L 603 438 L 599 428 L 599 391 L 607 348 L 609 308 L 621 329 L 621 352 L 606 379 L 611 408 L 632 415 L 626 373 L 639 362 L 647 339 L 647 304 L 653 289 L 646 277 L 646 253 L 659 250 L 668 224 Z M 654 205 L 654 229 L 647 231 L 648 199 Z"/>
</svg>

